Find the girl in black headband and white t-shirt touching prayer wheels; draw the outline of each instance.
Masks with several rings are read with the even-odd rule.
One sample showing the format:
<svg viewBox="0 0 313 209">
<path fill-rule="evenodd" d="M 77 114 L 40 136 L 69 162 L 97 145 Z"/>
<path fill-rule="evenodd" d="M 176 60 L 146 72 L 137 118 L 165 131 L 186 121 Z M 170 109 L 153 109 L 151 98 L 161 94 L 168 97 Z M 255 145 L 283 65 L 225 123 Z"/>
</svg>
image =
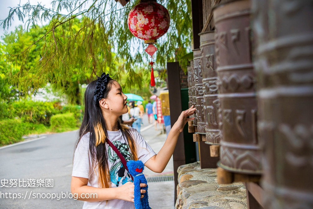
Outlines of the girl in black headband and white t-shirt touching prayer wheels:
<svg viewBox="0 0 313 209">
<path fill-rule="evenodd" d="M 107 140 L 126 161 L 141 160 L 150 170 L 161 173 L 174 152 L 179 133 L 187 121 L 194 119 L 187 117 L 196 108 L 181 113 L 156 154 L 136 129 L 121 124 L 119 117 L 128 112 L 127 97 L 109 74 L 102 73 L 91 81 L 84 97 L 85 114 L 75 145 L 71 193 L 77 193 L 77 199 L 85 201 L 83 208 L 135 208 L 131 176 Z M 141 190 L 141 197 L 145 192 Z"/>
</svg>

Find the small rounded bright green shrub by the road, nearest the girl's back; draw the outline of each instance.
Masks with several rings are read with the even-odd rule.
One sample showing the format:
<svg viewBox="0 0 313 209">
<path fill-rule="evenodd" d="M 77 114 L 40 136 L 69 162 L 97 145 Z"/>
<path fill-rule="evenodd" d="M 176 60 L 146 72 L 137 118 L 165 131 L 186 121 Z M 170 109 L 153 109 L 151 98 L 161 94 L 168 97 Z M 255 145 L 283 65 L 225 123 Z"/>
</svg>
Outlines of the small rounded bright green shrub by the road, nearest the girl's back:
<svg viewBox="0 0 313 209">
<path fill-rule="evenodd" d="M 74 117 L 74 113 L 71 112 L 52 116 L 50 123 L 51 130 L 53 132 L 69 131 L 77 127 L 77 121 Z"/>
</svg>

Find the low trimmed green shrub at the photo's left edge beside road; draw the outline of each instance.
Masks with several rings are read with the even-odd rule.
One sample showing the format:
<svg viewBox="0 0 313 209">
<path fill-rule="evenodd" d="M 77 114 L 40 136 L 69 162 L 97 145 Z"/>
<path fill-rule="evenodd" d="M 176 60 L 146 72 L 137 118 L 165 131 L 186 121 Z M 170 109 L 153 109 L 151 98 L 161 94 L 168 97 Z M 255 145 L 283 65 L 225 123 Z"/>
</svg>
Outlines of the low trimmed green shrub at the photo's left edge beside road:
<svg viewBox="0 0 313 209">
<path fill-rule="evenodd" d="M 25 133 L 22 121 L 19 119 L 7 119 L 0 121 L 0 146 L 22 141 Z"/>
</svg>

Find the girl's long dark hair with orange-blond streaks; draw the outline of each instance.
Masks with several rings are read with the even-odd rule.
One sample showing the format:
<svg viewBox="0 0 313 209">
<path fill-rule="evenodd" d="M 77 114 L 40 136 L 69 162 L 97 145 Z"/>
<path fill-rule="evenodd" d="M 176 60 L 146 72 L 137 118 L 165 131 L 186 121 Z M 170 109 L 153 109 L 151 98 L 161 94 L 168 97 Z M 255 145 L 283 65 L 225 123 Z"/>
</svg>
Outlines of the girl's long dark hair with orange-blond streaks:
<svg viewBox="0 0 313 209">
<path fill-rule="evenodd" d="M 114 85 L 112 78 L 108 79 L 106 88 L 103 92 L 103 98 L 108 98 L 108 94 Z M 105 119 L 103 118 L 101 108 L 94 101 L 94 92 L 96 90 L 96 82 L 91 81 L 85 91 L 84 95 L 84 105 L 85 113 L 83 121 L 79 129 L 79 137 L 75 143 L 75 149 L 77 148 L 78 143 L 82 136 L 89 132 L 89 150 L 91 155 L 92 166 L 95 169 L 95 166 L 98 166 L 99 173 L 98 175 L 98 186 L 99 188 L 109 188 L 110 184 L 110 173 L 107 159 L 107 150 L 105 148 L 105 140 L 107 139 L 107 126 Z M 134 141 L 134 136 L 131 134 L 131 130 L 126 126 L 121 124 L 120 119 L 117 122 L 117 128 L 121 130 L 123 137 L 128 143 L 131 149 L 131 159 L 138 160 L 136 153 L 136 144 Z M 114 140 L 110 138 L 110 140 Z"/>
</svg>

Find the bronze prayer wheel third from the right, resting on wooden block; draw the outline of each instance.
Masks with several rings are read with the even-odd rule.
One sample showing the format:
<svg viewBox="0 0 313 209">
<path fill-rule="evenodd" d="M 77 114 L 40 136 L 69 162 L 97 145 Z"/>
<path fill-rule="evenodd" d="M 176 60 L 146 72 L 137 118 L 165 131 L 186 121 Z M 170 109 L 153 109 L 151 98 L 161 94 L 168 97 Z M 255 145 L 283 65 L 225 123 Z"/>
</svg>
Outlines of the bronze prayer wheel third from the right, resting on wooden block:
<svg viewBox="0 0 313 209">
<path fill-rule="evenodd" d="M 215 71 L 215 31 L 208 31 L 200 35 L 201 70 L 204 92 L 204 121 L 207 144 L 219 144 L 221 132 L 218 127 L 218 86 Z"/>
</svg>

